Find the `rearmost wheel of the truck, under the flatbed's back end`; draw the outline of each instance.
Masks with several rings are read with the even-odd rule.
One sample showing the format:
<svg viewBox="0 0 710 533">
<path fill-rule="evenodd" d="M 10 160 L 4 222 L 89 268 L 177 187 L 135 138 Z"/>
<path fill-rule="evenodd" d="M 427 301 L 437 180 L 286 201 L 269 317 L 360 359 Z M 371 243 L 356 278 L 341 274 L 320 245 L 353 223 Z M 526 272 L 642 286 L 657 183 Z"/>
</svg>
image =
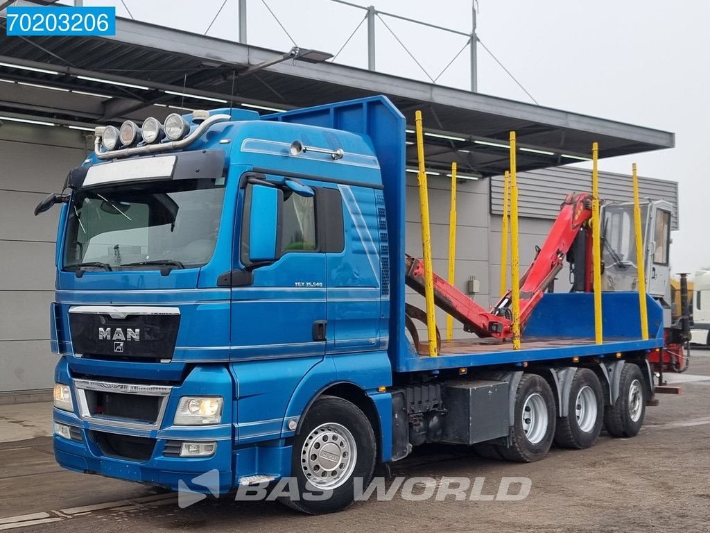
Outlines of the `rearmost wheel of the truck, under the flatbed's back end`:
<svg viewBox="0 0 710 533">
<path fill-rule="evenodd" d="M 626 363 L 619 378 L 619 397 L 604 408 L 604 428 L 614 437 L 633 437 L 643 425 L 646 409 L 643 375 L 638 365 Z"/>
</svg>

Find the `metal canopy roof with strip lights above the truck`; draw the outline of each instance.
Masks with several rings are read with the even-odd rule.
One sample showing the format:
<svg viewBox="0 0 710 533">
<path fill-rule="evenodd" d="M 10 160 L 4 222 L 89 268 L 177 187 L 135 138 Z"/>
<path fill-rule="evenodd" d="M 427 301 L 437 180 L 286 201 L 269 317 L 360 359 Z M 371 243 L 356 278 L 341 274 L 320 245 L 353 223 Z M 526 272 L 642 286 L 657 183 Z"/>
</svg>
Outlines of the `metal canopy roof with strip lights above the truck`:
<svg viewBox="0 0 710 533">
<path fill-rule="evenodd" d="M 0 18 L 0 27 L 4 25 Z M 425 137 L 427 168 L 433 171 L 448 171 L 452 161 L 457 161 L 461 173 L 503 173 L 511 130 L 517 132 L 522 148 L 518 153 L 521 171 L 579 161 L 564 156 L 589 157 L 592 141 L 599 141 L 600 157 L 674 146 L 674 134 L 667 131 L 334 63 L 287 61 L 239 75 L 249 65 L 280 53 L 120 18 L 113 38 L 17 38 L 0 33 L 0 63 L 56 72 L 0 65 L 0 80 L 4 80 L 0 82 L 0 115 L 8 117 L 31 115 L 51 117 L 55 124 L 90 125 L 126 118 L 140 121 L 151 115 L 163 119 L 172 112 L 165 106 L 224 107 L 229 104 L 209 98 L 231 101 L 232 73 L 236 72 L 235 104 L 290 109 L 383 94 L 409 124 L 414 123 L 415 110 L 421 109 L 425 131 L 430 133 Z M 208 99 L 169 95 L 165 90 Z M 410 139 L 414 140 L 413 134 Z M 415 157 L 415 146 L 409 146 L 412 166 Z"/>
</svg>

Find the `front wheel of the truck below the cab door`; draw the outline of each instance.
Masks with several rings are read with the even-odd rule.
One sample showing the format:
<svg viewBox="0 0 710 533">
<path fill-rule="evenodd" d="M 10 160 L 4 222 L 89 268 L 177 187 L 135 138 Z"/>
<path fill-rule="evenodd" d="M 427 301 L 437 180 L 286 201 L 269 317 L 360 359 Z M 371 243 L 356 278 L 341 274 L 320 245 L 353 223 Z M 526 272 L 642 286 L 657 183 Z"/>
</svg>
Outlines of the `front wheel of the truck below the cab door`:
<svg viewBox="0 0 710 533">
<path fill-rule="evenodd" d="M 363 488 L 372 480 L 376 450 L 372 426 L 360 409 L 344 399 L 320 397 L 293 441 L 291 475 L 298 495 L 279 501 L 308 515 L 344 510 L 354 501 L 354 479 L 361 478 Z"/>
</svg>

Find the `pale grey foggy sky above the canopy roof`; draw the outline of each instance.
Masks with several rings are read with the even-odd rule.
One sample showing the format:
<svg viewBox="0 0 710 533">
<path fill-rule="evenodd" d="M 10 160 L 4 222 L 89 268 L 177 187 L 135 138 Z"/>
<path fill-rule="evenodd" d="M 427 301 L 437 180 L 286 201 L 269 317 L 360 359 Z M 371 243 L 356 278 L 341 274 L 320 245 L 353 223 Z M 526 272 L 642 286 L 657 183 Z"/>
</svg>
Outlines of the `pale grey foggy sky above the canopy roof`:
<svg viewBox="0 0 710 533">
<path fill-rule="evenodd" d="M 222 0 L 125 0 L 137 20 L 204 33 Z M 461 31 L 471 29 L 471 0 L 350 0 L 375 5 Z M 119 16 L 127 16 L 120 2 Z M 296 43 L 332 53 L 357 26 L 364 11 L 328 0 L 267 0 Z M 182 6 L 178 9 L 178 6 Z M 249 44 L 288 50 L 293 43 L 261 0 L 248 0 Z M 704 237 L 710 185 L 704 155 L 709 117 L 710 3 L 679 0 L 481 0 L 478 34 L 503 65 L 546 107 L 638 124 L 676 134 L 676 148 L 600 161 L 603 171 L 679 182 L 679 231 L 673 234 L 672 271 L 710 266 Z M 462 36 L 385 18 L 422 66 L 436 77 L 466 42 Z M 209 36 L 236 40 L 237 0 L 228 0 Z M 377 70 L 429 81 L 377 22 Z M 366 28 L 361 26 L 337 62 L 366 67 Z M 479 46 L 479 92 L 530 102 Z M 469 88 L 464 50 L 440 85 Z M 269 99 L 265 95 L 264 99 Z"/>
</svg>

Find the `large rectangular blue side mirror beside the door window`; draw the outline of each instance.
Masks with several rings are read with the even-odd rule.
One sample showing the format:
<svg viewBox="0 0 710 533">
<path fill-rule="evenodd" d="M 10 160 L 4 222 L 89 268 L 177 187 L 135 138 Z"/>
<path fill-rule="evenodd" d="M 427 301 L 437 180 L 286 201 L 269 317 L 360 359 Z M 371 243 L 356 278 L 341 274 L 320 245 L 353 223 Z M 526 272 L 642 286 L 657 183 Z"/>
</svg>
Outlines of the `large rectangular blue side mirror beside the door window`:
<svg viewBox="0 0 710 533">
<path fill-rule="evenodd" d="M 251 185 L 249 212 L 249 261 L 273 262 L 280 255 L 281 204 L 283 191 L 266 185 Z"/>
</svg>

